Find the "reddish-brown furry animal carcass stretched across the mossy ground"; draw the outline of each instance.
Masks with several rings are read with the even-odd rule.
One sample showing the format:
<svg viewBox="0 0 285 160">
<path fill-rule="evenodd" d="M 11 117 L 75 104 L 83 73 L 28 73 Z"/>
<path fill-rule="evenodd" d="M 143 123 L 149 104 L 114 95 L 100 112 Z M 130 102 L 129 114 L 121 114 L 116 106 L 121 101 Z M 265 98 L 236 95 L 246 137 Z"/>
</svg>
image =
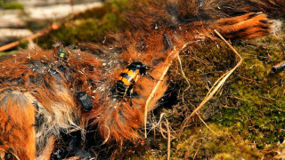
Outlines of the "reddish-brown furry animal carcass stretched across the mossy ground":
<svg viewBox="0 0 285 160">
<path fill-rule="evenodd" d="M 233 4 L 240 7 L 229 7 Z M 222 9 L 217 10 L 217 6 Z M 57 136 L 59 130 L 84 130 L 87 121 L 98 124 L 104 140 L 138 138 L 146 100 L 158 83 L 156 79 L 175 59 L 175 52 L 187 43 L 187 47 L 194 47 L 216 40 L 214 29 L 226 38 L 268 35 L 272 21 L 256 12 L 269 12 L 274 17 L 284 8 L 280 0 L 209 0 L 202 6 L 186 0 L 143 1 L 134 4 L 133 12 L 126 13 L 126 31 L 107 36 L 105 44 L 83 44 L 86 52 L 66 48 L 67 61 L 59 62 L 57 52 L 39 48 L 1 60 L 0 155 L 11 152 L 20 159 L 34 159 L 48 150 L 43 149 L 46 140 Z M 241 13 L 244 15 L 229 18 Z M 137 96 L 133 106 L 128 97 L 116 100 L 112 92 L 126 61 L 146 63 L 152 68 L 148 73 L 155 78 L 141 76 L 134 84 Z M 148 110 L 155 108 L 166 92 L 167 76 L 160 83 Z M 77 101 L 76 93 L 80 91 L 92 97 L 94 108 L 88 113 Z M 39 108 L 35 108 L 35 102 Z M 35 127 L 38 114 L 45 121 Z"/>
</svg>

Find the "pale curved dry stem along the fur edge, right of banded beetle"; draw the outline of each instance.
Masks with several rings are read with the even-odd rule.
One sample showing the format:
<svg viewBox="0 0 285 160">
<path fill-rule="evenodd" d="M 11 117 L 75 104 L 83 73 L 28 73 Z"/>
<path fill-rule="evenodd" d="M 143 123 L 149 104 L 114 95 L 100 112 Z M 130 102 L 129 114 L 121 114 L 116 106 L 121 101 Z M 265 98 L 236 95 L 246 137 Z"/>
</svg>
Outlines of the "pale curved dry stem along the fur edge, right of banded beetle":
<svg viewBox="0 0 285 160">
<path fill-rule="evenodd" d="M 174 46 L 174 50 L 169 53 L 168 58 L 169 58 L 169 59 L 172 58 L 172 60 L 175 59 L 175 57 L 179 54 L 179 52 L 181 52 L 181 51 L 182 51 L 185 47 L 187 47 L 189 44 L 192 44 L 192 43 L 186 43 L 186 44 L 184 44 L 183 47 L 182 47 L 178 52 L 176 51 L 176 47 Z M 173 53 L 175 53 L 175 54 L 173 55 Z M 147 122 L 147 119 L 148 119 L 147 117 L 148 117 L 148 107 L 149 107 L 149 104 L 150 104 L 150 102 L 151 102 L 152 97 L 154 96 L 154 93 L 157 92 L 157 90 L 158 90 L 158 88 L 159 88 L 159 84 L 162 82 L 164 76 L 166 76 L 167 71 L 168 71 L 168 69 L 169 69 L 170 66 L 171 66 L 172 60 L 167 61 L 167 62 L 168 62 L 167 68 L 164 70 L 164 72 L 163 72 L 162 75 L 160 76 L 159 82 L 154 86 L 154 88 L 153 88 L 153 90 L 152 90 L 152 92 L 151 92 L 151 94 L 150 94 L 148 100 L 146 100 L 146 102 L 145 102 L 145 108 L 144 108 L 144 138 L 147 138 L 147 137 L 148 137 L 148 136 L 147 136 L 147 132 L 146 132 L 146 122 Z"/>
</svg>

